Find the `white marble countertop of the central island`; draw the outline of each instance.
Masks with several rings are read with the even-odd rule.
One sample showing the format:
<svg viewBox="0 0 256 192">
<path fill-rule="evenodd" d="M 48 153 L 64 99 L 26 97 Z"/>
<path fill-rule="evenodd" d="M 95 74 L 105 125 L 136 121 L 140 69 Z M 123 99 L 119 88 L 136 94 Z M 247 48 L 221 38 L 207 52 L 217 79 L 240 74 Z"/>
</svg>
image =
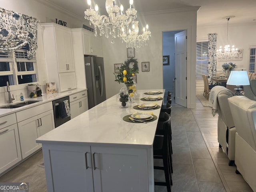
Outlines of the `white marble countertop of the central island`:
<svg viewBox="0 0 256 192">
<path fill-rule="evenodd" d="M 128 104 L 129 108 L 120 108 L 118 94 L 108 100 L 94 106 L 90 110 L 76 116 L 72 120 L 62 124 L 54 130 L 36 139 L 37 143 L 52 144 L 72 142 L 76 144 L 94 144 L 104 146 L 138 145 L 150 148 L 153 145 L 158 120 L 148 123 L 125 122 L 122 118 L 133 112 L 153 112 L 157 117 L 160 108 L 156 110 L 135 110 L 133 106 L 142 103 L 157 103 L 162 105 L 163 100 L 142 101 L 146 97 L 145 92 L 152 90 L 138 90 L 135 103 Z M 159 89 L 163 92 L 165 90 Z M 164 94 L 158 94 L 163 98 Z"/>
</svg>

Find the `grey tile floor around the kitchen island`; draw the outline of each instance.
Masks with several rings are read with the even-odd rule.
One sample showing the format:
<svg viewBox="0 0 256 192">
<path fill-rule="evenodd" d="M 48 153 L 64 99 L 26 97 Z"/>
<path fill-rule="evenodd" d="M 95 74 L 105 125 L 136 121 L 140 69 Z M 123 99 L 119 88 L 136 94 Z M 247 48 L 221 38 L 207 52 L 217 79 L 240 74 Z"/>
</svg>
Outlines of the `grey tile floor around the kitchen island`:
<svg viewBox="0 0 256 192">
<path fill-rule="evenodd" d="M 172 192 L 252 192 L 218 147 L 217 119 L 196 99 L 196 109 L 172 102 Z M 29 182 L 30 192 L 47 192 L 42 151 L 0 177 L 0 182 Z M 163 174 L 155 172 L 161 179 Z M 156 186 L 156 192 L 166 192 Z"/>
</svg>

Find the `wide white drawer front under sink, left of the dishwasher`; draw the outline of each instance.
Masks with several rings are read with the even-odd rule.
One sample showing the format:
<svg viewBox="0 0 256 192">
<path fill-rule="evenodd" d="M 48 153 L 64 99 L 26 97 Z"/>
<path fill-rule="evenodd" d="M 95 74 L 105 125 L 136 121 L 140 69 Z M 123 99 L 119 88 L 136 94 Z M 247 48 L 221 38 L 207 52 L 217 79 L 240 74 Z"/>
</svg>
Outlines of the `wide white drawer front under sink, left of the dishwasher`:
<svg viewBox="0 0 256 192">
<path fill-rule="evenodd" d="M 17 122 L 21 122 L 30 117 L 52 110 L 52 102 L 47 102 L 29 109 L 25 109 L 16 113 Z"/>
</svg>

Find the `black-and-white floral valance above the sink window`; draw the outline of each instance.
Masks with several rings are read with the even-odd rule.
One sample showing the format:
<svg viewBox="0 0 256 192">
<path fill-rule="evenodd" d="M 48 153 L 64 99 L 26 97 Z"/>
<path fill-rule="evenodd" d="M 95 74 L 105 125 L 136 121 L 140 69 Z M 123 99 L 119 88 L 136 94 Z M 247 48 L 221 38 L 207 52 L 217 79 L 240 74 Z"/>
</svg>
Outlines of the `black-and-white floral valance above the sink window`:
<svg viewBox="0 0 256 192">
<path fill-rule="evenodd" d="M 37 50 L 36 18 L 0 8 L 0 52 L 12 52 L 26 45 L 28 59 Z"/>
</svg>

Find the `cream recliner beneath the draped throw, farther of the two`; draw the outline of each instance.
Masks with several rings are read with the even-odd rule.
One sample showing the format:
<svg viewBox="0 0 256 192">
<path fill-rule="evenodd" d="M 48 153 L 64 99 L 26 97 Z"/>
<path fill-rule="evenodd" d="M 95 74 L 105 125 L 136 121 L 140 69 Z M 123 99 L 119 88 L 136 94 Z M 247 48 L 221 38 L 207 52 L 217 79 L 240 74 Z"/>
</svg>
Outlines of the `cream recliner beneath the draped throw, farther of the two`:
<svg viewBox="0 0 256 192">
<path fill-rule="evenodd" d="M 218 94 L 218 142 L 230 160 L 232 166 L 235 160 L 236 128 L 228 105 L 228 98 L 234 96 L 232 92 L 221 91 Z"/>
</svg>

